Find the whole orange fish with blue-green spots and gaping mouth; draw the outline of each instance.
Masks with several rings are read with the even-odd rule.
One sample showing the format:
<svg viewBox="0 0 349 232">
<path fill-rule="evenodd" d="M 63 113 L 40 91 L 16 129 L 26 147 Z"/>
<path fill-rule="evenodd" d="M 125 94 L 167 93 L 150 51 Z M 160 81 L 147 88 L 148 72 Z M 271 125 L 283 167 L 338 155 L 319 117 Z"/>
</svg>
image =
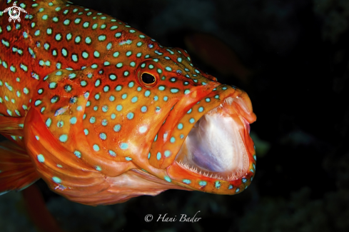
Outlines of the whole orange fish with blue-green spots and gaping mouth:
<svg viewBox="0 0 349 232">
<path fill-rule="evenodd" d="M 0 9 L 14 6 L 0 1 Z M 0 14 L 0 192 L 43 178 L 88 205 L 251 183 L 248 95 L 131 26 L 70 1 Z M 17 13 L 18 14 L 18 13 Z"/>
</svg>

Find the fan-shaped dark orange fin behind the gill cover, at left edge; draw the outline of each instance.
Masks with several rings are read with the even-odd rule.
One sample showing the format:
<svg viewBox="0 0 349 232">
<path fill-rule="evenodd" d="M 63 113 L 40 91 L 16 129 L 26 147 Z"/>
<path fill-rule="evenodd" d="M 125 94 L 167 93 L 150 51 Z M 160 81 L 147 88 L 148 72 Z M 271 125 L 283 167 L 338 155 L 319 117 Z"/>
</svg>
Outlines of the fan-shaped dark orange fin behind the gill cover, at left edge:
<svg viewBox="0 0 349 232">
<path fill-rule="evenodd" d="M 0 195 L 21 191 L 39 178 L 23 148 L 11 141 L 0 142 Z"/>
</svg>

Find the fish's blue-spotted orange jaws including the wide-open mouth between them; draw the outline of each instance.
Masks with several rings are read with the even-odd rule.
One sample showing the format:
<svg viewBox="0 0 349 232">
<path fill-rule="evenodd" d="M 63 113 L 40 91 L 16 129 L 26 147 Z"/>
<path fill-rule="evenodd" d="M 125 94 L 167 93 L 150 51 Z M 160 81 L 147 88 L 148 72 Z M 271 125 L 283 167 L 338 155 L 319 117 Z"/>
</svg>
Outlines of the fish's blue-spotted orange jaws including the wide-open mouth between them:
<svg viewBox="0 0 349 232">
<path fill-rule="evenodd" d="M 168 118 L 177 115 L 177 121 L 166 119 L 151 148 L 149 163 L 166 168 L 166 176 L 163 172 L 158 176 L 179 186 L 235 194 L 247 188 L 256 170 L 249 135 L 249 124 L 256 121 L 256 115 L 246 92 L 217 82 L 211 85 L 215 88 L 208 88 L 208 94 L 187 106 L 178 101 L 183 115 L 173 111 L 177 105 L 173 107 Z"/>
</svg>

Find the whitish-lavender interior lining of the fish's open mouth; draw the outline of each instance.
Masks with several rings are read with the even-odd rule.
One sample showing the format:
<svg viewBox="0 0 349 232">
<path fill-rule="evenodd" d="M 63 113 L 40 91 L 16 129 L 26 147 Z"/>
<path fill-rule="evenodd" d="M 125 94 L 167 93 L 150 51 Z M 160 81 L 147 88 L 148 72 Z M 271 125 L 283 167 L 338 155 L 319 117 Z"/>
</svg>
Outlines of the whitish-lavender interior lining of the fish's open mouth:
<svg viewBox="0 0 349 232">
<path fill-rule="evenodd" d="M 238 128 L 238 122 L 228 115 L 205 114 L 186 137 L 176 161 L 206 176 L 239 178 L 248 168 L 248 153 Z"/>
</svg>

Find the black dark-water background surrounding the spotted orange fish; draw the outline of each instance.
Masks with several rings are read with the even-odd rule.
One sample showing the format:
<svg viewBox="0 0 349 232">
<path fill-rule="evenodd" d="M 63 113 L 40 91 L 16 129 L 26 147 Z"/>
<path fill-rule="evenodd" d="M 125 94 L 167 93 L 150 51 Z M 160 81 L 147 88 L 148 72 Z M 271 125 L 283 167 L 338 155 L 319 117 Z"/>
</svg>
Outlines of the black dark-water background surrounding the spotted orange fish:
<svg viewBox="0 0 349 232">
<path fill-rule="evenodd" d="M 258 160 L 253 183 L 236 196 L 170 190 L 92 207 L 56 196 L 39 181 L 64 231 L 349 231 L 349 1 L 74 3 L 186 49 L 200 69 L 246 90 L 258 118 L 251 125 Z M 186 42 L 206 35 L 213 40 L 197 49 Z M 238 57 L 222 54 L 229 71 L 202 59 L 200 51 L 217 44 Z M 159 214 L 198 211 L 196 223 L 156 222 Z M 155 219 L 146 223 L 149 213 Z M 0 197 L 0 215 L 0 231 L 35 231 L 20 193 Z"/>
</svg>

